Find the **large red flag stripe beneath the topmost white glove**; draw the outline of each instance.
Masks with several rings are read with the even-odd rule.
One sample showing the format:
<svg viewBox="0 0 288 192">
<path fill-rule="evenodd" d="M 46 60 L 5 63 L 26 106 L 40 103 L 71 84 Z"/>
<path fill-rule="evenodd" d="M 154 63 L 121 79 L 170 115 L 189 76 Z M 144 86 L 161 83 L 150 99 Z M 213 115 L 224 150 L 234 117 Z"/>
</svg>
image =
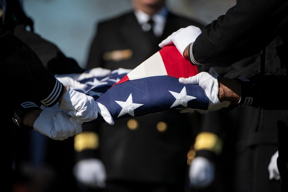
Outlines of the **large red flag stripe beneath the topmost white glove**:
<svg viewBox="0 0 288 192">
<path fill-rule="evenodd" d="M 174 45 L 163 47 L 159 52 L 168 76 L 188 78 L 199 73 L 197 66 L 192 65 L 189 60 L 183 58 Z"/>
</svg>

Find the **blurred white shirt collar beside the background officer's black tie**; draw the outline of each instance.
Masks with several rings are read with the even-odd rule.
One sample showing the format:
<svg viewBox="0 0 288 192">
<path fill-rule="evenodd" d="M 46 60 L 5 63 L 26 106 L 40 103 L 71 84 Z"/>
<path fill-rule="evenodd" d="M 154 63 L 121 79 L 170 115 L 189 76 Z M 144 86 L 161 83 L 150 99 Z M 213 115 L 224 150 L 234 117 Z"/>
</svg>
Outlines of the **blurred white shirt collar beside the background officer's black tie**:
<svg viewBox="0 0 288 192">
<path fill-rule="evenodd" d="M 138 23 L 141 26 L 145 25 L 147 21 L 150 19 L 150 16 L 141 10 L 135 10 L 134 14 L 138 20 Z M 167 15 L 168 15 L 168 9 L 166 7 L 163 7 L 162 9 L 160 9 L 160 11 L 151 16 L 151 18 L 155 23 L 155 26 L 153 28 L 154 34 L 158 37 L 160 37 L 163 33 Z"/>
</svg>

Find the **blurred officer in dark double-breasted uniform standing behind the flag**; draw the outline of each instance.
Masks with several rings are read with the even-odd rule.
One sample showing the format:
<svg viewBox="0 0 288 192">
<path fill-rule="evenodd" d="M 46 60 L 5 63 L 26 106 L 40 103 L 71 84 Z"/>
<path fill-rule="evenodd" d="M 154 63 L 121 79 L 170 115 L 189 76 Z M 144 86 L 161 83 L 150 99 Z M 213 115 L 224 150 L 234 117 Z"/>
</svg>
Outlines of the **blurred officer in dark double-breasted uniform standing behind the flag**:
<svg viewBox="0 0 288 192">
<path fill-rule="evenodd" d="M 165 0 L 132 0 L 133 10 L 99 22 L 87 68 L 134 69 L 160 50 L 177 28 L 202 28 L 169 11 Z M 116 82 L 115 82 L 116 83 Z M 75 177 L 83 191 L 184 191 L 187 152 L 197 122 L 177 110 L 89 124 L 75 137 Z M 188 187 L 189 188 L 189 187 Z"/>
</svg>

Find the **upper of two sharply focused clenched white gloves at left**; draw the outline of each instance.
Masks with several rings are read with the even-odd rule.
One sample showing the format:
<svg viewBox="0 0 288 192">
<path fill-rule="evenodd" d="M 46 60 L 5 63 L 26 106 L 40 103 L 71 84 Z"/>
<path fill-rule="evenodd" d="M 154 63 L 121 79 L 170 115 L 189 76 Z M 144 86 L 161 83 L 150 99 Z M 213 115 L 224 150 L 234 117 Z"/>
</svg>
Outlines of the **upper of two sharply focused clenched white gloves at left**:
<svg viewBox="0 0 288 192">
<path fill-rule="evenodd" d="M 58 104 L 59 109 L 68 112 L 77 119 L 78 124 L 92 121 L 97 118 L 97 103 L 94 98 L 84 93 L 77 92 L 68 87 L 67 92 Z"/>
</svg>

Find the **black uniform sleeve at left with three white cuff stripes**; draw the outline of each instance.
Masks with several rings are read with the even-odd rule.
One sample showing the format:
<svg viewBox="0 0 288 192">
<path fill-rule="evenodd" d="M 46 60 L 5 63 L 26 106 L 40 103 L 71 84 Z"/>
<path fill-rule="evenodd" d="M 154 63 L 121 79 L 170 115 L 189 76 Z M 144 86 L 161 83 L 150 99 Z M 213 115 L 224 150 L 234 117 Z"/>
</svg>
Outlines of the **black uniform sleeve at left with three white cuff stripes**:
<svg viewBox="0 0 288 192">
<path fill-rule="evenodd" d="M 0 36 L 0 58 L 2 85 L 7 93 L 5 106 L 10 108 L 12 118 L 21 118 L 27 109 L 52 107 L 58 102 L 63 84 L 30 47 L 9 31 Z"/>
</svg>

